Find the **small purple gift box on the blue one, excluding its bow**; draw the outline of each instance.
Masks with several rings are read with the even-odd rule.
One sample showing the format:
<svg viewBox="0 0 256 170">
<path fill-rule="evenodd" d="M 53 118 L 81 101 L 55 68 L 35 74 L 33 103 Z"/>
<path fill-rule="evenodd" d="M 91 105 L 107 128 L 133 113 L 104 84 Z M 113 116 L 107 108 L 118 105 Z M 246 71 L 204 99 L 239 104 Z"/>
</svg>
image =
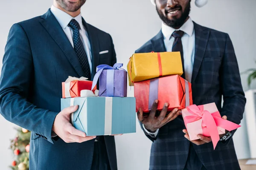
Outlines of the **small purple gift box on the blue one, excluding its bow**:
<svg viewBox="0 0 256 170">
<path fill-rule="evenodd" d="M 99 76 L 99 96 L 126 97 L 127 72 L 124 70 L 103 70 Z"/>
</svg>

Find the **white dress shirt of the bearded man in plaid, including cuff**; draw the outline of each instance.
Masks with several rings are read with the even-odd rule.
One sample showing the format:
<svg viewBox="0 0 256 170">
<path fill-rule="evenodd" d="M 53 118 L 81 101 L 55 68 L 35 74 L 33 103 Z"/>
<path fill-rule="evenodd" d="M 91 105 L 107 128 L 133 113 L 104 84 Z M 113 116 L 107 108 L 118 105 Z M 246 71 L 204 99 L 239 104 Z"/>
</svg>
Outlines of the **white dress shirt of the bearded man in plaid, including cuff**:
<svg viewBox="0 0 256 170">
<path fill-rule="evenodd" d="M 166 47 L 166 51 L 172 51 L 172 44 L 175 39 L 174 37 L 172 37 L 172 33 L 178 30 L 184 32 L 183 36 L 181 37 L 181 42 L 183 47 L 185 79 L 188 82 L 191 82 L 195 57 L 195 30 L 194 23 L 192 22 L 191 18 L 189 17 L 189 19 L 179 29 L 169 27 L 165 23 L 162 23 L 163 42 Z M 152 133 L 149 132 L 144 127 L 144 125 L 143 128 L 146 133 L 151 134 L 154 137 L 157 136 L 159 129 Z"/>
</svg>

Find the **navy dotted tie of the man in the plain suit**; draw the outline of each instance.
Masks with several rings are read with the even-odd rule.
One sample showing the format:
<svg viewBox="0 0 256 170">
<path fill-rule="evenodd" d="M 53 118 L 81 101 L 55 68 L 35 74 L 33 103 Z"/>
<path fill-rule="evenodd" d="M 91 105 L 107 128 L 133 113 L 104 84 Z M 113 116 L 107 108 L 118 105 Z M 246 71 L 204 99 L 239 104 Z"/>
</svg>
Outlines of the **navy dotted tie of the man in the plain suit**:
<svg viewBox="0 0 256 170">
<path fill-rule="evenodd" d="M 79 34 L 79 23 L 75 20 L 72 19 L 70 23 L 68 24 L 73 29 L 73 43 L 74 43 L 74 50 L 76 51 L 76 55 L 79 59 L 79 62 L 83 68 L 84 71 L 84 76 L 87 77 L 89 80 L 91 79 L 90 75 L 90 65 L 88 62 L 87 54 L 84 49 L 83 42 L 80 38 Z"/>
</svg>

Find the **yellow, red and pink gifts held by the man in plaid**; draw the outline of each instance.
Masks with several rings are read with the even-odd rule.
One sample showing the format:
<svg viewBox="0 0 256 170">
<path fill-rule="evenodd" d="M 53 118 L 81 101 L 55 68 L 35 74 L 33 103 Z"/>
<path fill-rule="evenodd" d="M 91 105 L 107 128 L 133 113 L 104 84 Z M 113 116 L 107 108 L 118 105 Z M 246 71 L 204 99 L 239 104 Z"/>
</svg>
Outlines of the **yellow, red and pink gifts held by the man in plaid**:
<svg viewBox="0 0 256 170">
<path fill-rule="evenodd" d="M 129 85 L 134 85 L 136 110 L 150 112 L 158 99 L 158 111 L 169 103 L 168 112 L 182 110 L 184 124 L 190 140 L 199 139 L 198 134 L 210 136 L 215 149 L 219 135 L 239 127 L 221 119 L 215 103 L 193 105 L 191 83 L 180 77 L 183 74 L 180 52 L 133 54 L 127 65 Z"/>
</svg>

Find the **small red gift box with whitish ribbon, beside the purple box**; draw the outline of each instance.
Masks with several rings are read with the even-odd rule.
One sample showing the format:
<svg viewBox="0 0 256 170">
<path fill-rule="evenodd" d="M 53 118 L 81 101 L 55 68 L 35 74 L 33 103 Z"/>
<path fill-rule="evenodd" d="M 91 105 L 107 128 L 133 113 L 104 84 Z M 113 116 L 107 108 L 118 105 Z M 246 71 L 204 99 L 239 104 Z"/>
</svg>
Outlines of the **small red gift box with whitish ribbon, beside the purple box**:
<svg viewBox="0 0 256 170">
<path fill-rule="evenodd" d="M 72 80 L 73 77 L 69 79 Z M 69 97 L 80 97 L 81 90 L 91 90 L 93 82 L 87 81 L 86 79 L 81 79 L 74 77 L 75 80 L 62 82 L 62 98 Z M 93 93 L 96 90 L 96 86 L 93 88 Z"/>
</svg>

